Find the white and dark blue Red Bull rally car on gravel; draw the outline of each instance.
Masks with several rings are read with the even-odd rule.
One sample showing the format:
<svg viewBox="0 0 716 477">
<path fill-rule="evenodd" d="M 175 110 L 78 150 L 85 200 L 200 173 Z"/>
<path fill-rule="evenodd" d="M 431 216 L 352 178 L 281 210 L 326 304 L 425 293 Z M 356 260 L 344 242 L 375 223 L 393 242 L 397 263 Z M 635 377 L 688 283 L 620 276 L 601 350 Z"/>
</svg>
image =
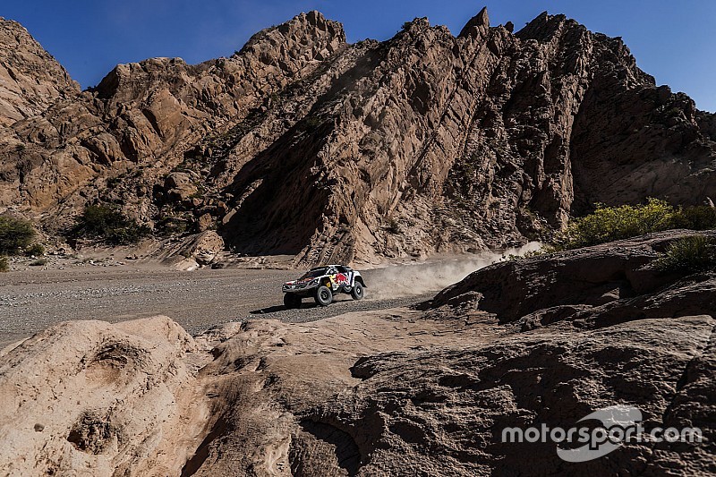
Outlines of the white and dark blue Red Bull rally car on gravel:
<svg viewBox="0 0 716 477">
<path fill-rule="evenodd" d="M 333 302 L 334 294 L 350 294 L 362 300 L 366 287 L 361 272 L 345 265 L 311 268 L 303 277 L 286 282 L 282 288 L 286 308 L 300 308 L 303 298 L 312 297 L 321 306 Z"/>
</svg>

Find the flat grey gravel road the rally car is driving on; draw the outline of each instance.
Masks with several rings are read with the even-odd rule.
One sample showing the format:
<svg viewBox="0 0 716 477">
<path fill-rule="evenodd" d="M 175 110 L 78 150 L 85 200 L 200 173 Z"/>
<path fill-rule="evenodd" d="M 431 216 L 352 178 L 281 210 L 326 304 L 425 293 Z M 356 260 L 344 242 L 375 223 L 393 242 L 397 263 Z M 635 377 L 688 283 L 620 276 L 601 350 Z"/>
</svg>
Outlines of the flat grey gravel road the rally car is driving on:
<svg viewBox="0 0 716 477">
<path fill-rule="evenodd" d="M 367 270 L 363 276 L 369 288 L 366 299 L 361 302 L 339 294 L 337 302 L 326 308 L 304 300 L 300 310 L 285 310 L 281 284 L 301 273 L 236 268 L 180 272 L 156 267 L 86 266 L 0 274 L 0 348 L 70 319 L 116 322 L 162 314 L 197 334 L 232 320 L 312 321 L 349 311 L 411 305 L 434 294 L 416 289 L 410 296 L 396 297 L 386 293 L 389 285 L 384 285 L 388 277 L 385 271 Z M 373 293 L 376 291 L 382 293 Z M 379 298 L 375 298 L 376 295 Z"/>
</svg>

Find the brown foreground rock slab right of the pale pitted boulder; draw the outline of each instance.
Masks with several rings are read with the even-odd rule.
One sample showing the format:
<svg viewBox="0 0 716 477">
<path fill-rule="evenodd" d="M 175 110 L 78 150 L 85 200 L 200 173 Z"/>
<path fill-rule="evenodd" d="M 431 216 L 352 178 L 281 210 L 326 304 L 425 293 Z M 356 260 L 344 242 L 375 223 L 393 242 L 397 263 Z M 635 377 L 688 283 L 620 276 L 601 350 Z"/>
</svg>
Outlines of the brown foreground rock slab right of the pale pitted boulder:
<svg viewBox="0 0 716 477">
<path fill-rule="evenodd" d="M 716 472 L 711 441 L 567 464 L 555 444 L 500 440 L 505 427 L 568 429 L 614 404 L 638 406 L 649 429 L 698 425 L 712 439 L 711 317 L 499 338 L 488 323 L 358 318 L 249 325 L 221 345 L 207 371 L 231 397 L 217 401 L 197 474 Z"/>
</svg>

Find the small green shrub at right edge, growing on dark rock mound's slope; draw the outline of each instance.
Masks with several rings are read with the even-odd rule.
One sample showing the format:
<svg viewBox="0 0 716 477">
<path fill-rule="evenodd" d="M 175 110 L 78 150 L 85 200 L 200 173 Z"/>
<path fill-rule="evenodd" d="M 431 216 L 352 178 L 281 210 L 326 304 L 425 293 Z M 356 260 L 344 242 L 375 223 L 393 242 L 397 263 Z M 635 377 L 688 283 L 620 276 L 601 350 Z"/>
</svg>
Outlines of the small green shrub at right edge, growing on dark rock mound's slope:
<svg viewBox="0 0 716 477">
<path fill-rule="evenodd" d="M 653 261 L 654 268 L 665 272 L 696 272 L 713 266 L 716 266 L 716 239 L 703 235 L 675 240 Z"/>
</svg>

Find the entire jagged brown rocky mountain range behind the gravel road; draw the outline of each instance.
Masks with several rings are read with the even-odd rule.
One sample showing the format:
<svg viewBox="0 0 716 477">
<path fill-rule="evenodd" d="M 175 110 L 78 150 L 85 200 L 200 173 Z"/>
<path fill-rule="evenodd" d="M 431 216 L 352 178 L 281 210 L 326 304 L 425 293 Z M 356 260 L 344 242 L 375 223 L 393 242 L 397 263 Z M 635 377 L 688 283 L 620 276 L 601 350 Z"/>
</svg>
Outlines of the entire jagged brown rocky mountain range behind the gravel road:
<svg viewBox="0 0 716 477">
<path fill-rule="evenodd" d="M 302 13 L 230 57 L 121 64 L 80 92 L 2 21 L 22 58 L 2 64 L 29 93 L 0 109 L 0 207 L 56 226 L 114 203 L 158 234 L 216 227 L 303 265 L 514 245 L 594 202 L 716 196 L 716 118 L 620 38 L 547 13 L 513 30 L 483 9 L 457 36 L 416 19 L 349 45 Z"/>
</svg>

